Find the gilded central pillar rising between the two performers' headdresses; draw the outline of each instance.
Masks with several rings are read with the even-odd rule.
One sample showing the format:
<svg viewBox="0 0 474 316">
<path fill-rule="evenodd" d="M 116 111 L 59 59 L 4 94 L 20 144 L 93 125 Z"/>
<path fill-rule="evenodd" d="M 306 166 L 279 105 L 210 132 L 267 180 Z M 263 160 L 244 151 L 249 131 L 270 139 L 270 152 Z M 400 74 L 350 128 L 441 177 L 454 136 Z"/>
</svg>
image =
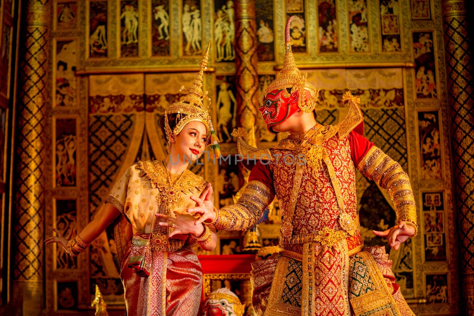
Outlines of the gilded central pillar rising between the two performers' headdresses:
<svg viewBox="0 0 474 316">
<path fill-rule="evenodd" d="M 259 107 L 255 1 L 235 1 L 234 5 L 237 121 L 238 126 L 248 131 L 255 126 Z M 252 138 L 252 133 L 249 133 L 247 137 L 247 143 L 255 146 L 255 137 Z"/>
</svg>

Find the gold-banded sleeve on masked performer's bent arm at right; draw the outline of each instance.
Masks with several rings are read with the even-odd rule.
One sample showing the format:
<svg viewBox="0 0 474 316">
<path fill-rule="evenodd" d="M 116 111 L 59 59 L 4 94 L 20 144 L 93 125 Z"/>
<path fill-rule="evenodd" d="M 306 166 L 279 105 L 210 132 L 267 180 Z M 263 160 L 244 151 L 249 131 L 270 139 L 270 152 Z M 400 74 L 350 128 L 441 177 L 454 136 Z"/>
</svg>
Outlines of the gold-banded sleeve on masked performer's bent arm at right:
<svg viewBox="0 0 474 316">
<path fill-rule="evenodd" d="M 398 222 L 405 221 L 407 225 L 413 226 L 416 235 L 418 226 L 415 199 L 408 174 L 401 169 L 400 164 L 373 146 L 362 158 L 358 169 L 365 177 L 389 192 Z"/>
</svg>

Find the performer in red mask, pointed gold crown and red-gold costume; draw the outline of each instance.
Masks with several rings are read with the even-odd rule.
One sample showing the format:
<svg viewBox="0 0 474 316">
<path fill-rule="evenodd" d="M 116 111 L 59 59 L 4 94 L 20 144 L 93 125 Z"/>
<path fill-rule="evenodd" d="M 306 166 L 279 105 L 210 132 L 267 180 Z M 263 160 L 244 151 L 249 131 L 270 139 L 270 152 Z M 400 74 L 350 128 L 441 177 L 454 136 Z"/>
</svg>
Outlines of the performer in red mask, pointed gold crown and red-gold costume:
<svg viewBox="0 0 474 316">
<path fill-rule="evenodd" d="M 267 150 L 250 147 L 239 137 L 239 153 L 257 157 L 240 199 L 219 210 L 209 200 L 196 199 L 198 206 L 188 211 L 202 214 L 196 223 L 246 230 L 278 198 L 281 251 L 252 264 L 258 315 L 414 315 L 395 283 L 384 247 L 363 248 L 355 168 L 390 193 L 397 225 L 374 234 L 386 237 L 395 250 L 417 234 L 408 175 L 362 136 L 360 99 L 350 92 L 343 96 L 349 112 L 341 123 L 316 123 L 319 90 L 296 67 L 291 19 L 283 69 L 265 90 L 260 107 L 269 131 L 289 136 Z"/>
</svg>

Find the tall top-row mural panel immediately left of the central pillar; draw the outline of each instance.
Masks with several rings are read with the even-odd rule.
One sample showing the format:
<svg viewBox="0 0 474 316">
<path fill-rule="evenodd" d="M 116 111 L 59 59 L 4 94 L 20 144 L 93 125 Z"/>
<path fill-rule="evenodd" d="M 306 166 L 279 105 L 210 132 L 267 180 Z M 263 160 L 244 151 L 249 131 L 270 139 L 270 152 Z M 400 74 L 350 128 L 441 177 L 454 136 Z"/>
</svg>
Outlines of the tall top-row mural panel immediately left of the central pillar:
<svg viewBox="0 0 474 316">
<path fill-rule="evenodd" d="M 235 60 L 235 22 L 234 1 L 214 1 L 214 45 L 216 62 L 233 62 Z"/>
</svg>

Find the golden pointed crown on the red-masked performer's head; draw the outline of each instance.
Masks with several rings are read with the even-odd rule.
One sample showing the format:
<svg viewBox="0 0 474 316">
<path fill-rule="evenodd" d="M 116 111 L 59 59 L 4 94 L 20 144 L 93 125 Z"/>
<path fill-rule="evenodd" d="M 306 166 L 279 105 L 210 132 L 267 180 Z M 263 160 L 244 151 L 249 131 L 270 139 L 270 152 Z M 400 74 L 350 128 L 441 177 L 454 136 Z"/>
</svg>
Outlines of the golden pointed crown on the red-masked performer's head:
<svg viewBox="0 0 474 316">
<path fill-rule="evenodd" d="M 299 91 L 300 98 L 298 100 L 298 106 L 304 112 L 311 112 L 316 106 L 316 101 L 319 97 L 319 89 L 316 89 L 310 81 L 306 78 L 306 73 L 301 75 L 300 70 L 296 67 L 295 57 L 292 53 L 292 42 L 290 37 L 290 25 L 294 16 L 290 17 L 286 22 L 285 27 L 285 58 L 283 59 L 283 68 L 279 72 L 279 76 L 264 91 L 264 96 L 268 92 L 273 90 L 285 89 L 284 96 L 290 97 L 294 91 Z M 291 88 L 291 92 L 288 93 L 286 88 Z M 310 91 L 311 97 L 306 99 L 305 91 Z"/>
</svg>

